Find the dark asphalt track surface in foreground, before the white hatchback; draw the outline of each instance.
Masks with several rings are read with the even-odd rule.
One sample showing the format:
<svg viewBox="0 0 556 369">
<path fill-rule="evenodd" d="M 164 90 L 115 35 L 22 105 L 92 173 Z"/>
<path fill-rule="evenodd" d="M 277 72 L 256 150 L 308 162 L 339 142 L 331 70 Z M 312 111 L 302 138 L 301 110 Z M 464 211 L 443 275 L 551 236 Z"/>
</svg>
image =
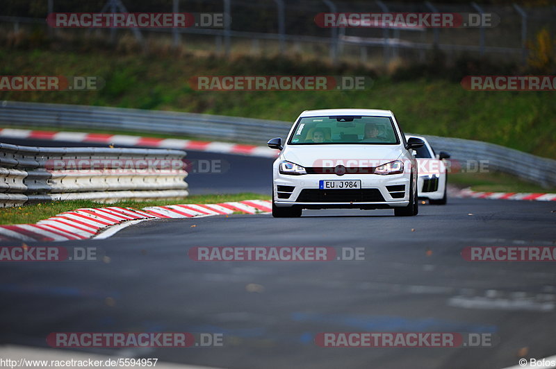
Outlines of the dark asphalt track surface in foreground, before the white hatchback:
<svg viewBox="0 0 556 369">
<path fill-rule="evenodd" d="M 471 262 L 461 250 L 556 246 L 555 210 L 454 198 L 407 218 L 306 210 L 290 219 L 142 222 L 108 239 L 62 244 L 96 247 L 98 261 L 1 265 L 0 344 L 45 346 L 51 332 L 214 332 L 224 334 L 223 347 L 133 354 L 224 368 L 514 366 L 520 353 L 556 354 L 555 264 Z M 193 261 L 187 252 L 195 246 L 359 247 L 365 259 Z M 313 342 L 319 332 L 490 332 L 497 344 L 325 348 Z"/>
</svg>

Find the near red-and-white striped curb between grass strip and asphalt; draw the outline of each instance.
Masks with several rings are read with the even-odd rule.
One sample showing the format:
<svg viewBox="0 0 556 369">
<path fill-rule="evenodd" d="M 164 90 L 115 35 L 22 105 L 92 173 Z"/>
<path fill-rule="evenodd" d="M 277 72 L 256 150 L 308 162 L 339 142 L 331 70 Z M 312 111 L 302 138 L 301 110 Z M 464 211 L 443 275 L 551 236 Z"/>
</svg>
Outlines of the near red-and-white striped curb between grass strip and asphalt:
<svg viewBox="0 0 556 369">
<path fill-rule="evenodd" d="M 160 218 L 195 218 L 240 212 L 266 213 L 272 210 L 268 200 L 244 200 L 220 204 L 183 204 L 145 207 L 99 207 L 63 212 L 35 224 L 0 225 L 0 241 L 70 241 L 90 239 L 114 225 L 131 225 Z M 124 223 L 128 222 L 128 223 Z M 121 229 L 121 228 L 120 228 Z M 113 234 L 115 232 L 112 232 Z M 103 233 L 101 233 L 103 234 Z M 106 235 L 102 238 L 106 238 Z"/>
</svg>

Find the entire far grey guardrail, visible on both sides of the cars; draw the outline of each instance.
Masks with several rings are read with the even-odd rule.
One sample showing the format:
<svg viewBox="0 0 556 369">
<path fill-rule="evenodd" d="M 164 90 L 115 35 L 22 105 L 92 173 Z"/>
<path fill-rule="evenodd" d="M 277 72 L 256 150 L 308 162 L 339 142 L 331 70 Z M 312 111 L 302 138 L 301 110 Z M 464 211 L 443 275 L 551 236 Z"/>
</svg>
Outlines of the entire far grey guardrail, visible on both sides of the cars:
<svg viewBox="0 0 556 369">
<path fill-rule="evenodd" d="M 104 128 L 112 131 L 171 133 L 229 139 L 264 145 L 273 137 L 286 137 L 291 122 L 224 117 L 208 114 L 161 112 L 79 105 L 19 103 L 0 104 L 0 126 L 48 128 Z M 434 149 L 448 151 L 460 162 L 487 162 L 489 170 L 556 186 L 556 160 L 537 157 L 482 141 L 425 135 Z"/>
</svg>

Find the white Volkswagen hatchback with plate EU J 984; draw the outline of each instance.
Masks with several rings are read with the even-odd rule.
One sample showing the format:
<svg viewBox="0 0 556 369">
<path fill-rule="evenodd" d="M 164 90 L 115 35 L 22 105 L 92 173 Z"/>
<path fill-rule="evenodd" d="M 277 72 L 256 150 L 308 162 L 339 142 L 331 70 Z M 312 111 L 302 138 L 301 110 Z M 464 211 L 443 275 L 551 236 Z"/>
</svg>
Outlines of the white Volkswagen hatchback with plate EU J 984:
<svg viewBox="0 0 556 369">
<path fill-rule="evenodd" d="M 327 109 L 302 112 L 273 165 L 272 216 L 301 216 L 302 209 L 394 209 L 418 213 L 417 166 L 389 110 Z"/>
</svg>

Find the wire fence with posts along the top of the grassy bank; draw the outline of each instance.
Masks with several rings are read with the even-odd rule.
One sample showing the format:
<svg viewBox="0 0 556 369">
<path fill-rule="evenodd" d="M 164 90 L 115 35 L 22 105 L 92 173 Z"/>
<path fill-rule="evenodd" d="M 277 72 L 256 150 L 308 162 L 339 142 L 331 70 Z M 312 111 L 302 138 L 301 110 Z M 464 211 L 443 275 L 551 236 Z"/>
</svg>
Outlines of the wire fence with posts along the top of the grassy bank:
<svg viewBox="0 0 556 369">
<path fill-rule="evenodd" d="M 94 33 L 115 42 L 129 34 L 145 45 L 149 37 L 167 37 L 174 46 L 216 53 L 257 55 L 302 55 L 339 61 L 391 60 L 425 62 L 442 51 L 446 58 L 459 55 L 484 56 L 493 60 L 525 62 L 528 42 L 542 28 L 556 33 L 553 18 L 556 5 L 544 7 L 517 4 L 477 5 L 477 3 L 434 4 L 396 1 L 340 0 L 160 0 L 88 1 L 49 0 L 40 6 L 24 2 L 6 6 L 0 16 L 4 32 L 21 28 L 47 29 L 44 18 L 50 12 L 217 12 L 229 14 L 231 24 L 221 28 L 133 28 L 80 30 L 48 29 L 50 35 Z M 458 12 L 486 13 L 500 23 L 488 28 L 321 28 L 315 17 L 321 12 Z"/>
</svg>

